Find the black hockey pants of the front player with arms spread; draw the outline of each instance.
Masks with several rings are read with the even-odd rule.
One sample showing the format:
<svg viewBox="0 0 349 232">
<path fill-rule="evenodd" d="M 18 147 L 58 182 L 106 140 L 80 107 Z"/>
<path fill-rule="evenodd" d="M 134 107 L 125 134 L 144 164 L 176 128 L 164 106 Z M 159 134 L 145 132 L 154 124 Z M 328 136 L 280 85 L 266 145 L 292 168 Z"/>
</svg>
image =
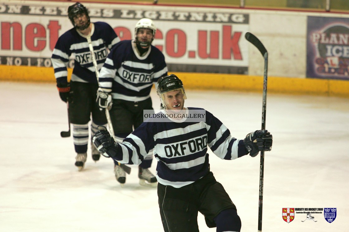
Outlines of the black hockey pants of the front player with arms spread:
<svg viewBox="0 0 349 232">
<path fill-rule="evenodd" d="M 216 227 L 213 219 L 221 211 L 236 209 L 212 172 L 180 188 L 158 183 L 157 194 L 165 232 L 198 232 L 198 212 L 205 216 L 208 227 Z"/>
</svg>

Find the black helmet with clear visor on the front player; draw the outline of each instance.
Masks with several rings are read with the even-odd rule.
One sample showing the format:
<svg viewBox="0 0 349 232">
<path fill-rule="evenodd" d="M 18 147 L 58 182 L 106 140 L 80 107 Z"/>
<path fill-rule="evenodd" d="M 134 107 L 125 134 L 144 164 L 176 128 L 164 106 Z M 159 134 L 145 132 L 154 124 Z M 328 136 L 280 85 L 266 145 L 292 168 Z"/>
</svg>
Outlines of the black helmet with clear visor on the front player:
<svg viewBox="0 0 349 232">
<path fill-rule="evenodd" d="M 165 107 L 165 97 L 164 94 L 173 90 L 179 89 L 184 95 L 183 98 L 187 99 L 185 90 L 183 87 L 183 82 L 174 74 L 170 74 L 165 77 L 159 78 L 157 81 L 156 93 L 160 97 L 162 105 Z"/>
</svg>

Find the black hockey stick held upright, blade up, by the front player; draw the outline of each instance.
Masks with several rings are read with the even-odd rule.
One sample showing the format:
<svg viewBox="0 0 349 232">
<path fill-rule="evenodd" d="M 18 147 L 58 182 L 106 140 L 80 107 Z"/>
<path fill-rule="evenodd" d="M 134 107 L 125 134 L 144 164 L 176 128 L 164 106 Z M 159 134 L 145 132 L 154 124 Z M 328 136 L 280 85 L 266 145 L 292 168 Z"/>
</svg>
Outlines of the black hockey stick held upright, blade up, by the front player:
<svg viewBox="0 0 349 232">
<path fill-rule="evenodd" d="M 245 38 L 252 43 L 264 58 L 264 78 L 263 78 L 263 102 L 262 102 L 262 130 L 265 129 L 265 119 L 267 111 L 267 81 L 268 81 L 268 52 L 261 41 L 250 32 L 246 32 Z M 258 231 L 262 231 L 262 211 L 263 211 L 263 176 L 264 176 L 264 151 L 261 151 L 259 170 L 259 205 L 258 205 Z"/>
</svg>

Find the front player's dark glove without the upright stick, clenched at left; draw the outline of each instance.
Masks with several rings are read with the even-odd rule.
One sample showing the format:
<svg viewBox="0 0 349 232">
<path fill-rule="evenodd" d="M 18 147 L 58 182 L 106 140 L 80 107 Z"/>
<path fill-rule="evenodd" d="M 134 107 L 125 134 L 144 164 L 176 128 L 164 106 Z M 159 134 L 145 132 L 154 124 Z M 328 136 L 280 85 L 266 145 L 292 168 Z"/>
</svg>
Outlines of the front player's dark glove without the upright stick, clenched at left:
<svg viewBox="0 0 349 232">
<path fill-rule="evenodd" d="M 104 157 L 116 157 L 120 145 L 114 141 L 104 126 L 98 126 L 98 131 L 93 135 L 92 142 Z"/>
</svg>

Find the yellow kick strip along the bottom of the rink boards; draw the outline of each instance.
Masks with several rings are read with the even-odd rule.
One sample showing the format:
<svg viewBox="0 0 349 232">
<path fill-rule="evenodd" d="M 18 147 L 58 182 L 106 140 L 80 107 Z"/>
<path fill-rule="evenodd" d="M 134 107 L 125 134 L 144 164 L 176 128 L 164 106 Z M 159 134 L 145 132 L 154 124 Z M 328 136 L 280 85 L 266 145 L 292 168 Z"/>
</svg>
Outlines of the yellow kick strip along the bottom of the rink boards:
<svg viewBox="0 0 349 232">
<path fill-rule="evenodd" d="M 0 65 L 0 80 L 55 82 L 52 67 Z M 72 69 L 68 69 L 70 77 Z M 262 91 L 263 77 L 240 74 L 185 73 L 178 75 L 187 89 Z M 268 77 L 269 93 L 310 94 L 349 97 L 349 81 L 333 79 Z"/>
</svg>

